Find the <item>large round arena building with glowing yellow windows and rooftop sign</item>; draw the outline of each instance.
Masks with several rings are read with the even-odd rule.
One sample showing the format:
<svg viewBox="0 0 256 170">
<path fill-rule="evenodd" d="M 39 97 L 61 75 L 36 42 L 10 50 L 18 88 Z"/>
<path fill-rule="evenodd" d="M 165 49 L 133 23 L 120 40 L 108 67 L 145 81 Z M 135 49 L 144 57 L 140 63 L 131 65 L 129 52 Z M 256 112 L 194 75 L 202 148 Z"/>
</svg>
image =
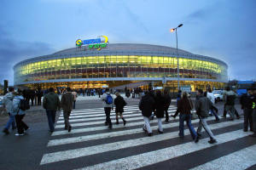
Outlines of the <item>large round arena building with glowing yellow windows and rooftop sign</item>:
<svg viewBox="0 0 256 170">
<path fill-rule="evenodd" d="M 177 57 L 180 87 L 223 88 L 228 82 L 228 65 L 212 57 L 159 45 L 80 42 L 76 48 L 16 64 L 15 86 L 146 88 L 151 83 L 177 91 Z"/>
</svg>

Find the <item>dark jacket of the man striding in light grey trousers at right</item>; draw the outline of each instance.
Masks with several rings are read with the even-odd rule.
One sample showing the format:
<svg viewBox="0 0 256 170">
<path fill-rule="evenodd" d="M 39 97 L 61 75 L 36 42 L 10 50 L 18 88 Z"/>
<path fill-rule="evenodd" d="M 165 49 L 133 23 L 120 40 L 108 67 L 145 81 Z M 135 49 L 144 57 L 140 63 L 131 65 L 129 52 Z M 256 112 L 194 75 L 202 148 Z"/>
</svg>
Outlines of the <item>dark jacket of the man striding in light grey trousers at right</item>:
<svg viewBox="0 0 256 170">
<path fill-rule="evenodd" d="M 201 117 L 209 116 L 209 111 L 211 107 L 212 101 L 205 96 L 200 96 L 199 99 L 195 100 L 196 114 Z"/>
</svg>

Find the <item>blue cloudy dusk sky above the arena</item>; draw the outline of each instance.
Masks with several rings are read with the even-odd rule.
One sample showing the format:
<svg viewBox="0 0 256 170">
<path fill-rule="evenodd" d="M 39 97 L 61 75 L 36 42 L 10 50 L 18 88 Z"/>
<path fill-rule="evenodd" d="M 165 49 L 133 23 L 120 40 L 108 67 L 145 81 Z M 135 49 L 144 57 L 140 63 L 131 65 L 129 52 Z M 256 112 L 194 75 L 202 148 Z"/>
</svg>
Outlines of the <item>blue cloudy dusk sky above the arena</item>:
<svg viewBox="0 0 256 170">
<path fill-rule="evenodd" d="M 255 0 L 1 0 L 0 81 L 23 59 L 75 47 L 79 38 L 176 47 L 222 59 L 230 79 L 256 79 Z"/>
</svg>

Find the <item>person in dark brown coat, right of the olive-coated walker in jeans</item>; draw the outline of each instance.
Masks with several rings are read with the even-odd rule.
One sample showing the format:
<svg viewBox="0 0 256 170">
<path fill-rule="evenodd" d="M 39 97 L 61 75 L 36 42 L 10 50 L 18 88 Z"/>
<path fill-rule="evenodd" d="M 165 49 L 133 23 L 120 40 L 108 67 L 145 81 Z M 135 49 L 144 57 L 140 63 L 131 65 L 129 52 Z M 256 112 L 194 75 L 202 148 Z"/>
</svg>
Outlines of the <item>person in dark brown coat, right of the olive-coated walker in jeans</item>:
<svg viewBox="0 0 256 170">
<path fill-rule="evenodd" d="M 69 123 L 69 116 L 73 108 L 73 94 L 70 88 L 67 88 L 67 93 L 63 94 L 61 97 L 61 108 L 63 109 L 65 129 L 70 132 L 71 125 Z"/>
</svg>

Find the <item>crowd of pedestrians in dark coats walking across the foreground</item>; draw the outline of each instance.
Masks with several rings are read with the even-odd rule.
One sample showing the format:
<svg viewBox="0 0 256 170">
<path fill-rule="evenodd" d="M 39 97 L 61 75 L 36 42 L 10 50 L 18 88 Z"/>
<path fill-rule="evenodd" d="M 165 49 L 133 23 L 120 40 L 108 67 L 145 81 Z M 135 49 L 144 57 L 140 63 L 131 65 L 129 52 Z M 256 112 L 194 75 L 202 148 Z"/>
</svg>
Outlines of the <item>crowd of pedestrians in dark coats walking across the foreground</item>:
<svg viewBox="0 0 256 170">
<path fill-rule="evenodd" d="M 78 97 L 78 92 L 76 90 L 72 90 L 71 88 L 66 88 L 63 94 L 61 95 L 61 99 L 58 95 L 59 91 L 55 93 L 54 88 L 49 88 L 47 93 L 40 88 L 35 93 L 32 93 L 33 90 L 23 90 L 20 89 L 15 92 L 14 88 L 9 88 L 9 93 L 5 94 L 3 97 L 4 107 L 9 114 L 9 121 L 3 128 L 3 133 L 9 134 L 9 127 L 12 127 L 13 130 L 17 129 L 17 133 L 15 135 L 21 136 L 26 133 L 29 127 L 23 122 L 23 118 L 25 116 L 26 110 L 29 109 L 29 100 L 34 99 L 31 97 L 31 94 L 35 94 L 37 99 L 41 100 L 41 97 L 44 95 L 43 99 L 43 107 L 46 112 L 46 116 L 48 118 L 49 123 L 49 132 L 53 133 L 55 131 L 55 117 L 56 111 L 63 110 L 65 129 L 68 132 L 71 132 L 72 126 L 69 122 L 69 116 L 71 115 L 73 109 L 75 109 L 76 99 Z M 129 92 L 129 89 L 125 89 L 125 93 Z M 62 93 L 62 92 L 61 92 Z M 28 95 L 29 94 L 29 95 Z M 104 112 L 106 115 L 105 125 L 108 126 L 109 129 L 113 128 L 113 123 L 110 118 L 111 111 L 115 106 L 115 118 L 116 124 L 119 124 L 119 118 L 121 118 L 124 126 L 127 123 L 125 121 L 125 117 L 123 116 L 124 107 L 127 105 L 125 99 L 119 94 L 119 92 L 115 92 L 115 98 L 111 91 L 108 88 L 101 89 L 100 94 L 102 100 L 102 106 L 104 108 Z M 100 97 L 99 94 L 99 97 Z M 135 89 L 134 94 L 139 98 L 140 89 Z M 235 100 L 236 93 L 234 93 L 230 88 L 226 88 L 224 91 L 224 115 L 230 115 L 228 121 L 234 121 L 236 115 L 235 108 Z M 32 103 L 32 102 L 31 102 Z M 164 129 L 162 126 L 162 119 L 166 117 L 165 122 L 169 122 L 169 113 L 168 109 L 172 103 L 171 95 L 169 91 L 166 89 L 162 93 L 160 90 L 152 90 L 149 89 L 145 91 L 141 96 L 138 107 L 142 111 L 144 125 L 143 131 L 148 133 L 148 136 L 152 136 L 153 132 L 150 127 L 150 122 L 154 120 L 154 116 L 156 116 L 158 122 L 158 133 L 164 133 Z M 186 122 L 189 127 L 189 132 L 195 143 L 197 143 L 201 139 L 201 129 L 204 128 L 210 140 L 208 141 L 210 144 L 214 144 L 217 142 L 215 139 L 210 127 L 207 124 L 207 117 L 209 113 L 212 116 L 215 116 L 215 121 L 219 121 L 218 117 L 218 109 L 214 106 L 215 99 L 212 94 L 212 90 L 207 88 L 206 92 L 203 92 L 201 89 L 197 89 L 197 94 L 195 98 L 195 103 L 190 99 L 190 96 L 186 92 L 179 91 L 177 94 L 177 111 L 173 118 L 179 114 L 179 137 L 184 137 L 184 122 Z M 253 132 L 252 137 L 256 137 L 256 89 L 248 89 L 248 93 L 241 96 L 240 99 L 241 109 L 244 112 L 244 132 L 247 132 L 248 129 Z M 38 102 L 37 105 L 40 105 L 41 102 Z M 198 127 L 195 130 L 191 123 L 191 119 L 193 113 L 191 112 L 195 108 L 195 114 L 199 118 Z M 239 119 L 240 116 L 237 113 L 236 117 Z"/>
</svg>

